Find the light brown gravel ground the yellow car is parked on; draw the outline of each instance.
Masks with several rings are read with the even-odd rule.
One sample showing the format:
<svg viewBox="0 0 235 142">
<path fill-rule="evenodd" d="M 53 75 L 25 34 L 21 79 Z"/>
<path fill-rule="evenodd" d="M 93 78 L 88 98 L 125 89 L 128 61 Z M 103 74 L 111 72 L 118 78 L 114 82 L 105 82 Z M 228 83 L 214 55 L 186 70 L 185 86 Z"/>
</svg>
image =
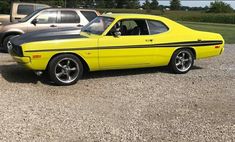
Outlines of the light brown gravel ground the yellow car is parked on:
<svg viewBox="0 0 235 142">
<path fill-rule="evenodd" d="M 235 141 L 235 45 L 175 75 L 93 72 L 57 87 L 0 53 L 0 141 Z"/>
</svg>

